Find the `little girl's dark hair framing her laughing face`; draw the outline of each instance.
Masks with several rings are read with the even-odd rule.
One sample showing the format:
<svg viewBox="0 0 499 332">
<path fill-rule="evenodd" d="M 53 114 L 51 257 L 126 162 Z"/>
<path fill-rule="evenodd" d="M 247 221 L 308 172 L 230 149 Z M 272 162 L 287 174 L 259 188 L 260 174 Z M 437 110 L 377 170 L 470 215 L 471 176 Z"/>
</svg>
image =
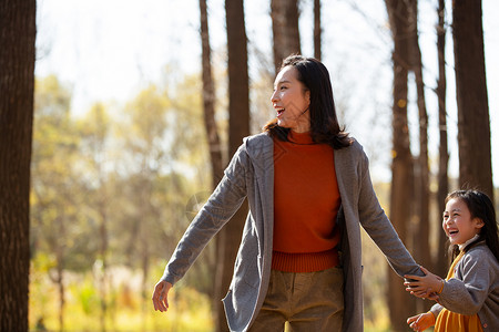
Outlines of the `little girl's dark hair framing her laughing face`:
<svg viewBox="0 0 499 332">
<path fill-rule="evenodd" d="M 478 234 L 478 239 L 472 243 L 469 243 L 464 250 L 468 251 L 477 242 L 485 240 L 493 256 L 496 256 L 496 259 L 499 260 L 499 239 L 497 234 L 498 227 L 496 210 L 490 198 L 479 190 L 456 190 L 447 195 L 446 204 L 452 198 L 461 199 L 466 204 L 471 214 L 471 218 L 479 218 L 483 221 L 483 227 Z M 449 253 L 451 260 L 454 260 L 459 253 L 459 247 L 450 246 Z"/>
</svg>

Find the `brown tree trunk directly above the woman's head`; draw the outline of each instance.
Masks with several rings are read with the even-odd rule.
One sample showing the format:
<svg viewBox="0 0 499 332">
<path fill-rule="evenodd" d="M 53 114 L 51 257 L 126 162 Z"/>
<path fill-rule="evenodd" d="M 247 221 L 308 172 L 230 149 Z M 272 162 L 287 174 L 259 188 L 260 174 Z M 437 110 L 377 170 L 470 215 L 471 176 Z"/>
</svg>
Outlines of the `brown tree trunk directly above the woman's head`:
<svg viewBox="0 0 499 332">
<path fill-rule="evenodd" d="M 283 59 L 301 53 L 297 0 L 271 0 L 272 33 L 274 35 L 275 72 Z"/>
</svg>

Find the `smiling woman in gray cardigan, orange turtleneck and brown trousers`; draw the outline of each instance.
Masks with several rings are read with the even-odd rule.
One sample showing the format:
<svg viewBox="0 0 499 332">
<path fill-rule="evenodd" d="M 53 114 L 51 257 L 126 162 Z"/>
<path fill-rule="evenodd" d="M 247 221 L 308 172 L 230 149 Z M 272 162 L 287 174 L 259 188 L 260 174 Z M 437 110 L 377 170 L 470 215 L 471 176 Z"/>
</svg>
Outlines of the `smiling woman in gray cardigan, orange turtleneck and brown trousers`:
<svg viewBox="0 0 499 332">
<path fill-rule="evenodd" d="M 379 206 L 361 146 L 340 131 L 327 69 L 284 60 L 276 118 L 246 137 L 155 286 L 154 309 L 247 197 L 223 300 L 231 331 L 363 331 L 360 225 L 399 274 L 422 274 Z"/>
</svg>

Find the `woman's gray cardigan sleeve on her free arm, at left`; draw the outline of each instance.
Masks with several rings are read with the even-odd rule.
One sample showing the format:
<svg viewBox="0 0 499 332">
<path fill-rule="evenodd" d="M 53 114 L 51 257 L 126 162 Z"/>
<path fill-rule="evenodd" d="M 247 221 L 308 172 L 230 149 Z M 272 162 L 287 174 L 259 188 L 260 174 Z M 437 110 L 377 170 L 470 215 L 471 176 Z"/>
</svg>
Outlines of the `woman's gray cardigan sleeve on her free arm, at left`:
<svg viewBox="0 0 499 332">
<path fill-rule="evenodd" d="M 248 156 L 244 144 L 234 154 L 224 177 L 210 196 L 173 252 L 161 280 L 174 284 L 184 277 L 201 251 L 238 210 L 246 197 Z"/>
</svg>

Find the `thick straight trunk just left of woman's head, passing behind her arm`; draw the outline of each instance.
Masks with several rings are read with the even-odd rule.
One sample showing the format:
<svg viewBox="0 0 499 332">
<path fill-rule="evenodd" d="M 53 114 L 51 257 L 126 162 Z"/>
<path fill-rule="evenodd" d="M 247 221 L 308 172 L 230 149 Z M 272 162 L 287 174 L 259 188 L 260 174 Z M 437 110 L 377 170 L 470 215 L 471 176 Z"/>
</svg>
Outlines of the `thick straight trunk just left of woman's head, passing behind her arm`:
<svg viewBox="0 0 499 332">
<path fill-rule="evenodd" d="M 228 153 L 234 155 L 249 135 L 249 77 L 247 71 L 247 39 L 243 0 L 225 0 L 228 53 Z M 227 291 L 234 261 L 241 242 L 247 204 L 220 231 L 216 267 L 216 294 Z M 218 311 L 216 331 L 228 331 L 223 311 Z"/>
</svg>

